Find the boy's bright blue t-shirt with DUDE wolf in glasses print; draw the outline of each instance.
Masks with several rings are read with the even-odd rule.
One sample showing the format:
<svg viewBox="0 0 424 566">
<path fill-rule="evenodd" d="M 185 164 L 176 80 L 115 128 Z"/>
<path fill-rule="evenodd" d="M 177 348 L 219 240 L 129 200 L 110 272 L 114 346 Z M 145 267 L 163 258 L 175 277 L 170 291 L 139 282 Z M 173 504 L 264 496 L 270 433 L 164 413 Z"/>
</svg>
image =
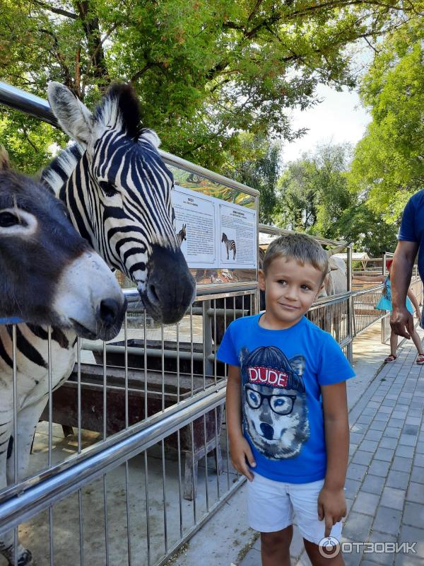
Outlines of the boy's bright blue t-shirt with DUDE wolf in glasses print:
<svg viewBox="0 0 424 566">
<path fill-rule="evenodd" d="M 253 472 L 286 483 L 321 480 L 326 444 L 320 386 L 355 375 L 336 340 L 302 317 L 285 330 L 234 320 L 217 357 L 240 366 L 243 431 Z M 329 431 L 331 434 L 331 431 Z"/>
</svg>

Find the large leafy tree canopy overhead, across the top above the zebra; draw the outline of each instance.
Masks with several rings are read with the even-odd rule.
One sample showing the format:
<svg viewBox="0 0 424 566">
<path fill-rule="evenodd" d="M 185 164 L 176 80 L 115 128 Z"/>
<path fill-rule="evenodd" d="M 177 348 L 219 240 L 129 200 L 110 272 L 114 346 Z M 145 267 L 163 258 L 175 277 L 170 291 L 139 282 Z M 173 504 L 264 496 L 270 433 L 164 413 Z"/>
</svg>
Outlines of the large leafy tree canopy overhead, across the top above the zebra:
<svg viewBox="0 0 424 566">
<path fill-rule="evenodd" d="M 58 80 L 88 105 L 110 81 L 131 81 L 164 149 L 218 168 L 240 132 L 299 135 L 283 109 L 314 104 L 319 82 L 352 86 L 346 45 L 374 41 L 415 9 L 414 0 L 3 0 L 0 78 L 40 96 Z M 16 115 L 6 119 L 25 151 Z"/>
</svg>

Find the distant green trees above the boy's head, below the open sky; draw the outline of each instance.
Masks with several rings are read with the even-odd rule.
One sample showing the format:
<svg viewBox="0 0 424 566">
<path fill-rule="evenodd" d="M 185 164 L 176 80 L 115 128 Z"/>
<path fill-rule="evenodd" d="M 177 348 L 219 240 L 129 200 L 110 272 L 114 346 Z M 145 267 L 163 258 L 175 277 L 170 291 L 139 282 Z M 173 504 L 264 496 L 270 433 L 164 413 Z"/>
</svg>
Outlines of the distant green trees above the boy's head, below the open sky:
<svg viewBox="0 0 424 566">
<path fill-rule="evenodd" d="M 278 226 L 355 244 L 380 255 L 396 247 L 396 226 L 348 189 L 348 144 L 321 146 L 288 164 L 278 182 Z"/>
</svg>

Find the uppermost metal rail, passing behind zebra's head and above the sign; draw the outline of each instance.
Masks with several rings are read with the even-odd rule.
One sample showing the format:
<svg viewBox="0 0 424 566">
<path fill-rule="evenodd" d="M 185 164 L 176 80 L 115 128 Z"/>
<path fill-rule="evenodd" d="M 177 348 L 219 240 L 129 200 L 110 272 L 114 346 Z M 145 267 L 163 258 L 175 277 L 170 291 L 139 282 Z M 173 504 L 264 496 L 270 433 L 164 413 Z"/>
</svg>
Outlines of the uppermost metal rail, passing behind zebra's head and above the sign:
<svg viewBox="0 0 424 566">
<path fill-rule="evenodd" d="M 7 83 L 0 81 L 0 103 L 3 103 L 10 108 L 15 110 L 20 110 L 26 112 L 27 114 L 39 118 L 43 122 L 47 122 L 54 127 L 59 127 L 57 119 L 54 116 L 52 109 L 50 108 L 47 100 L 29 94 L 20 88 L 16 88 Z M 181 157 L 177 157 L 173 154 L 167 153 L 167 151 L 159 150 L 160 156 L 162 156 L 163 161 L 168 165 L 184 169 L 184 171 L 189 171 L 190 173 L 196 173 L 204 178 L 207 178 L 214 183 L 220 183 L 221 185 L 226 185 L 228 187 L 245 192 L 247 195 L 252 195 L 254 197 L 259 196 L 259 191 L 243 185 L 243 183 L 238 183 L 238 181 L 229 179 L 220 173 L 215 173 L 215 171 L 209 171 L 204 167 L 190 163 Z"/>
</svg>

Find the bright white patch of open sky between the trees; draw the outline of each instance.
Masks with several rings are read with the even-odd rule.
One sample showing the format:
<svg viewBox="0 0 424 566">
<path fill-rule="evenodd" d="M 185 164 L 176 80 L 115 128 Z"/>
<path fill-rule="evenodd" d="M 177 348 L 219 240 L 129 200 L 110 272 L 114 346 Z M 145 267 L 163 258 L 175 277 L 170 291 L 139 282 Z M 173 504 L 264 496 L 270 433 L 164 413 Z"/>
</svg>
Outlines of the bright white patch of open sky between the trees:
<svg viewBox="0 0 424 566">
<path fill-rule="evenodd" d="M 291 112 L 293 129 L 309 128 L 300 139 L 284 142 L 283 166 L 300 158 L 304 151 L 314 151 L 319 144 L 341 144 L 350 141 L 355 145 L 363 137 L 365 127 L 371 121 L 370 114 L 360 103 L 358 93 L 348 89 L 337 92 L 329 86 L 319 86 L 317 96 L 323 102 L 309 110 L 294 109 Z"/>
</svg>

